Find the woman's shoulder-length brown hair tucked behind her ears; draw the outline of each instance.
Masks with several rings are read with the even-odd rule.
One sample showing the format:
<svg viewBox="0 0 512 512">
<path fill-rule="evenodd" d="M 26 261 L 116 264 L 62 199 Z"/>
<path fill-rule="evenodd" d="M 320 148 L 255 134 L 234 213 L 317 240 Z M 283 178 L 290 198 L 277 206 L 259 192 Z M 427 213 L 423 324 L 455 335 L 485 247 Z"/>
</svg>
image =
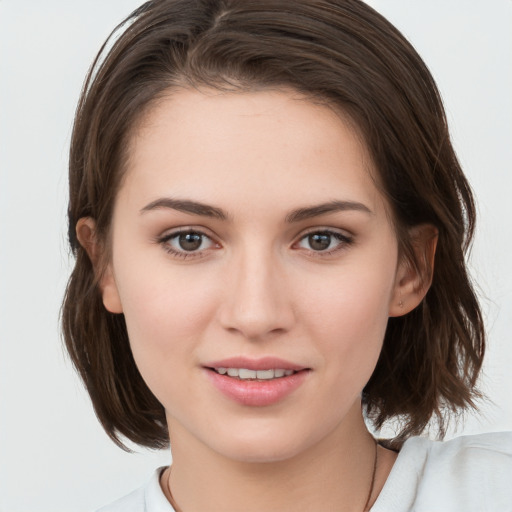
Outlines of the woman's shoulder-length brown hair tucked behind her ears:
<svg viewBox="0 0 512 512">
<path fill-rule="evenodd" d="M 390 318 L 363 392 L 376 427 L 399 418 L 397 439 L 474 405 L 484 329 L 467 275 L 474 228 L 469 185 L 450 144 L 436 85 L 388 21 L 359 0 L 155 0 L 104 45 L 86 79 L 69 160 L 69 242 L 76 264 L 62 309 L 66 347 L 108 435 L 168 443 L 164 409 L 132 357 L 123 315 L 107 312 L 79 244 L 81 217 L 106 242 L 130 134 L 176 87 L 293 88 L 356 124 L 393 212 L 403 257 L 421 265 L 410 228 L 439 230 L 435 273 L 422 304 Z"/>
</svg>

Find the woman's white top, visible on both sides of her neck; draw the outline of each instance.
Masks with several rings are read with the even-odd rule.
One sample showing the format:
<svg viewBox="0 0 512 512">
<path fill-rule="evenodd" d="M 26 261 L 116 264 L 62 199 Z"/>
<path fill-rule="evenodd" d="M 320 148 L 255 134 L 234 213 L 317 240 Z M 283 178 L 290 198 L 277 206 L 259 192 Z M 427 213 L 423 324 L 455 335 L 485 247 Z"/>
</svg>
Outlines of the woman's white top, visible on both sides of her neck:
<svg viewBox="0 0 512 512">
<path fill-rule="evenodd" d="M 162 469 L 97 512 L 175 512 L 160 488 Z M 371 512 L 409 511 L 512 512 L 512 432 L 408 439 Z"/>
</svg>

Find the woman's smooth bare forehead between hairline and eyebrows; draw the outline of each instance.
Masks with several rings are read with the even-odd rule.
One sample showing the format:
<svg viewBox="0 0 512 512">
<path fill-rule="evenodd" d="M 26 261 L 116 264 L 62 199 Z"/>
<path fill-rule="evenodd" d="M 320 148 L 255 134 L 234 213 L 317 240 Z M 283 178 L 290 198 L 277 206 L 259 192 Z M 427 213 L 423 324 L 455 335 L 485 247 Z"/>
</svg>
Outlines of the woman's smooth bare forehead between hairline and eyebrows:
<svg viewBox="0 0 512 512">
<path fill-rule="evenodd" d="M 234 208 L 347 199 L 375 209 L 373 174 L 354 124 L 294 91 L 181 89 L 138 125 L 122 189 L 148 202 L 192 194 Z"/>
</svg>

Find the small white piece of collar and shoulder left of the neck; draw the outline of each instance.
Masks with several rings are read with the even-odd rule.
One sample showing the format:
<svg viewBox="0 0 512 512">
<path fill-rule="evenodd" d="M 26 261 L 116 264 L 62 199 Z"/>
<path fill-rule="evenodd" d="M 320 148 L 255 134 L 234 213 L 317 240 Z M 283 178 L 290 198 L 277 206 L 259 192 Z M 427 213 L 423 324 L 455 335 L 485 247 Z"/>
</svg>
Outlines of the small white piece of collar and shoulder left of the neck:
<svg viewBox="0 0 512 512">
<path fill-rule="evenodd" d="M 96 512 L 174 512 L 160 488 L 158 468 L 146 484 Z"/>
</svg>

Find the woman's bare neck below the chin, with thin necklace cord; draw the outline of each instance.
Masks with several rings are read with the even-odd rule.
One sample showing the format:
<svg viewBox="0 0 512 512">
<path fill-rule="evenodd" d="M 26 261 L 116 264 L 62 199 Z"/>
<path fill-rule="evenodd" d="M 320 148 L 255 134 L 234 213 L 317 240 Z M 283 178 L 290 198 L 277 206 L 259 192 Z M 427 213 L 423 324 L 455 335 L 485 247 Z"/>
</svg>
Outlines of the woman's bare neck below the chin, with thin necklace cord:
<svg viewBox="0 0 512 512">
<path fill-rule="evenodd" d="M 362 512 L 374 476 L 375 442 L 360 408 L 349 420 L 301 453 L 273 462 L 224 457 L 180 425 L 171 424 L 173 466 L 170 480 L 169 473 L 164 473 L 162 488 L 169 498 L 170 481 L 173 499 L 182 512 L 212 510 L 212 503 L 215 510 L 226 512 L 291 512 L 299 503 L 304 511 Z M 392 463 L 387 465 L 389 473 Z M 378 469 L 382 469 L 380 462 Z M 378 472 L 370 506 L 387 473 L 383 477 Z"/>
</svg>

